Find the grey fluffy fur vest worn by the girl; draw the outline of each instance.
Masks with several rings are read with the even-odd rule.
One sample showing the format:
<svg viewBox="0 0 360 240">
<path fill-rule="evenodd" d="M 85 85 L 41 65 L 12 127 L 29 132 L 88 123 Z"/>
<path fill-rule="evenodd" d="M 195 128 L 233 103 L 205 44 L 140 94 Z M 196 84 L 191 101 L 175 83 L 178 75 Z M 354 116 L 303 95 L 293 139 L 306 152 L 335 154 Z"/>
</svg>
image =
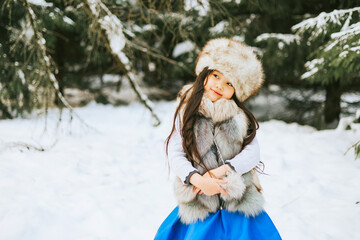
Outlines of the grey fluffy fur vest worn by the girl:
<svg viewBox="0 0 360 240">
<path fill-rule="evenodd" d="M 199 113 L 203 117 L 200 117 L 194 126 L 197 147 L 205 166 L 211 170 L 223 164 L 219 154 L 226 161 L 240 152 L 247 133 L 248 120 L 233 100 L 220 99 L 213 103 L 204 96 Z M 206 172 L 206 169 L 197 164 L 195 168 L 201 174 Z M 228 195 L 206 196 L 194 194 L 193 186 L 176 178 L 174 192 L 183 223 L 202 221 L 221 208 L 244 213 L 246 216 L 256 216 L 263 210 L 264 198 L 256 187 L 259 185 L 254 170 L 243 175 L 229 171 L 223 179 L 228 183 L 221 186 Z"/>
</svg>

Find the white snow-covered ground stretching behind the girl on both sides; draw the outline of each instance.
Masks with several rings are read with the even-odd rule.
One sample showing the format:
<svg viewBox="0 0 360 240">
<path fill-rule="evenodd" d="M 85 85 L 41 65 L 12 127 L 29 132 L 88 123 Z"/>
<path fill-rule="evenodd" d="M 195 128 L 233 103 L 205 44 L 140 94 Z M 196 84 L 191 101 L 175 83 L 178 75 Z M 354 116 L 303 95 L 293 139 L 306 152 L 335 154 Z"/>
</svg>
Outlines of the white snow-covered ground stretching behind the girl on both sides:
<svg viewBox="0 0 360 240">
<path fill-rule="evenodd" d="M 0 239 L 153 239 L 176 206 L 162 120 L 139 103 L 90 104 L 56 127 L 44 117 L 0 121 Z M 260 123 L 266 210 L 283 239 L 360 239 L 360 159 L 344 155 L 360 132 Z M 24 143 L 45 151 L 27 149 Z"/>
</svg>

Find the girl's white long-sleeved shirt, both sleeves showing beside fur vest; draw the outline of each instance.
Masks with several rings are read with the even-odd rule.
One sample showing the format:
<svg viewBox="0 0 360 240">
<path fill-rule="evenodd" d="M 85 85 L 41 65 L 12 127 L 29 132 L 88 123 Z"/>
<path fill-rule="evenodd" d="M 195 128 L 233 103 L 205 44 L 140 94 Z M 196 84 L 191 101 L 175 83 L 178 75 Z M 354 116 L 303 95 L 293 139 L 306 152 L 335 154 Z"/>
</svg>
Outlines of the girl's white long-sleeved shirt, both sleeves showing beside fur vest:
<svg viewBox="0 0 360 240">
<path fill-rule="evenodd" d="M 182 147 L 182 138 L 179 131 L 179 121 L 175 122 L 175 131 L 171 136 L 168 146 L 170 170 L 178 176 L 183 183 L 190 184 L 189 179 L 192 174 L 198 172 L 190 161 L 186 158 L 186 153 Z M 247 173 L 260 162 L 260 148 L 255 136 L 254 140 L 232 159 L 226 160 L 236 172 Z"/>
</svg>

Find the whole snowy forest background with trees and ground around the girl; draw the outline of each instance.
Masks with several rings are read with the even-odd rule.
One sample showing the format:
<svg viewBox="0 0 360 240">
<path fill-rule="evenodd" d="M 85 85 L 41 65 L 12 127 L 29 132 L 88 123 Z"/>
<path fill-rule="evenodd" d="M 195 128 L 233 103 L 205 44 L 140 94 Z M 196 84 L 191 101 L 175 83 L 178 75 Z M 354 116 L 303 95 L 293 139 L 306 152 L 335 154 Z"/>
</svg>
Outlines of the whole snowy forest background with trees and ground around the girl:
<svg viewBox="0 0 360 240">
<path fill-rule="evenodd" d="M 216 37 L 263 63 L 245 104 L 282 237 L 358 239 L 359 0 L 1 0 L 0 239 L 152 239 L 176 94 Z"/>
</svg>

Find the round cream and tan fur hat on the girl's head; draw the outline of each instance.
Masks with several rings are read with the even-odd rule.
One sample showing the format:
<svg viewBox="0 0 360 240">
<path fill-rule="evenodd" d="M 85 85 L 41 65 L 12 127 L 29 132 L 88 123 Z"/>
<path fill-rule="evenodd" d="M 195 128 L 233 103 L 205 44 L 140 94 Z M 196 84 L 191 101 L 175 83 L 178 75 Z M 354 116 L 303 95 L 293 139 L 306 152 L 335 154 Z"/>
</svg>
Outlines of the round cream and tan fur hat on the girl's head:
<svg viewBox="0 0 360 240">
<path fill-rule="evenodd" d="M 228 78 L 241 102 L 255 95 L 264 82 L 261 63 L 253 50 L 233 39 L 216 38 L 208 41 L 198 56 L 196 75 L 205 67 L 217 70 Z"/>
</svg>

